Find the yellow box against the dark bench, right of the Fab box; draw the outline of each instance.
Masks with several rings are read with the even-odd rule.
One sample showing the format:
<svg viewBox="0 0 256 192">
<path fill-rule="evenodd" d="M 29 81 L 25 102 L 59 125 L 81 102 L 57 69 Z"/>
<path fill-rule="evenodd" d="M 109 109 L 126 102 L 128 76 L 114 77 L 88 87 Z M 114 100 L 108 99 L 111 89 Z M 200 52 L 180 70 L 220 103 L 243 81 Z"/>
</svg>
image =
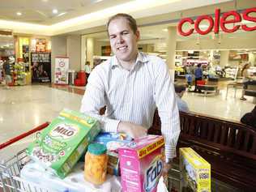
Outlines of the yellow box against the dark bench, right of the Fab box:
<svg viewBox="0 0 256 192">
<path fill-rule="evenodd" d="M 181 186 L 194 192 L 211 192 L 211 165 L 192 148 L 180 148 Z"/>
</svg>

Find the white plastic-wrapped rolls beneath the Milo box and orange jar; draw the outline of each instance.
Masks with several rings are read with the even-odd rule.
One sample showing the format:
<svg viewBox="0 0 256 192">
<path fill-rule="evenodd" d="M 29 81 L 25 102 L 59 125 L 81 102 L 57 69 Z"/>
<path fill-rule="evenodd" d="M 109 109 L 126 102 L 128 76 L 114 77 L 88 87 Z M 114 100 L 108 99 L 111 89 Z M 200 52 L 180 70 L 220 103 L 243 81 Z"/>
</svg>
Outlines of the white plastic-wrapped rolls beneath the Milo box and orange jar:
<svg viewBox="0 0 256 192">
<path fill-rule="evenodd" d="M 23 182 L 23 191 L 38 192 L 41 190 L 35 189 L 32 185 L 41 186 L 48 189 L 49 192 L 121 192 L 121 181 L 116 176 L 108 175 L 106 181 L 100 185 L 95 186 L 91 182 L 84 180 L 83 176 L 84 163 L 79 162 L 75 164 L 72 171 L 61 179 L 55 174 L 49 172 L 37 164 L 36 162 L 29 162 L 24 165 L 20 171 L 20 179 Z M 36 176 L 36 177 L 35 177 Z M 30 184 L 30 186 L 27 185 Z M 44 190 L 45 191 L 45 190 Z"/>
</svg>

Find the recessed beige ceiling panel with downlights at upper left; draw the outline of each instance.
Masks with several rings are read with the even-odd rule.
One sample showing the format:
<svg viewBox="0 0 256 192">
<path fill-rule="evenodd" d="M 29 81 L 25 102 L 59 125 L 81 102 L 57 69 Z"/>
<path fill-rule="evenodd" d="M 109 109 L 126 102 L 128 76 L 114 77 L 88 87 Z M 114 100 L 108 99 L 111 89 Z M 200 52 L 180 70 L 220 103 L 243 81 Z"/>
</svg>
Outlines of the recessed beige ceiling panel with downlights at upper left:
<svg viewBox="0 0 256 192">
<path fill-rule="evenodd" d="M 46 24 L 117 6 L 129 0 L 7 0 L 1 1 L 0 19 Z M 53 9 L 58 13 L 53 14 Z M 17 15 L 20 12 L 22 15 Z"/>
</svg>

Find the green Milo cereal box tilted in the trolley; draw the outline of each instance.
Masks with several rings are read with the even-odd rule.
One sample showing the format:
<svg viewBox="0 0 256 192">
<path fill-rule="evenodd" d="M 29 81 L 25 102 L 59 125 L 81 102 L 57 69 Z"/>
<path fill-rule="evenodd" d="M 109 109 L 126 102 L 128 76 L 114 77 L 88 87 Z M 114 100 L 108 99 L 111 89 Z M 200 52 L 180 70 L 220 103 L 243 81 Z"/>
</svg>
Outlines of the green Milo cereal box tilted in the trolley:
<svg viewBox="0 0 256 192">
<path fill-rule="evenodd" d="M 99 133 L 100 123 L 96 118 L 63 109 L 37 135 L 36 140 L 28 146 L 27 153 L 32 160 L 64 178 Z"/>
</svg>

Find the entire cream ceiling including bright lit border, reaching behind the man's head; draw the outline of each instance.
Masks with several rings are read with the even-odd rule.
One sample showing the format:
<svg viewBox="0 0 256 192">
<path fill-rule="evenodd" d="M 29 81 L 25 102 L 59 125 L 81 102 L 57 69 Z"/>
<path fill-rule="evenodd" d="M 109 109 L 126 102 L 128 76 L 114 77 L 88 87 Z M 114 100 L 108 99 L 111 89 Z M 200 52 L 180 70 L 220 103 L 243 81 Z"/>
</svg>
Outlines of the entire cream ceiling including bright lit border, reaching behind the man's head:
<svg viewBox="0 0 256 192">
<path fill-rule="evenodd" d="M 0 2 L 0 28 L 10 29 L 15 33 L 54 36 L 104 26 L 109 16 L 118 12 L 129 13 L 135 19 L 143 19 L 221 2 L 233 1 L 6 0 Z M 54 15 L 53 9 L 58 9 L 58 14 Z M 22 15 L 16 15 L 18 11 Z M 62 13 L 65 15 L 59 15 Z"/>
</svg>

